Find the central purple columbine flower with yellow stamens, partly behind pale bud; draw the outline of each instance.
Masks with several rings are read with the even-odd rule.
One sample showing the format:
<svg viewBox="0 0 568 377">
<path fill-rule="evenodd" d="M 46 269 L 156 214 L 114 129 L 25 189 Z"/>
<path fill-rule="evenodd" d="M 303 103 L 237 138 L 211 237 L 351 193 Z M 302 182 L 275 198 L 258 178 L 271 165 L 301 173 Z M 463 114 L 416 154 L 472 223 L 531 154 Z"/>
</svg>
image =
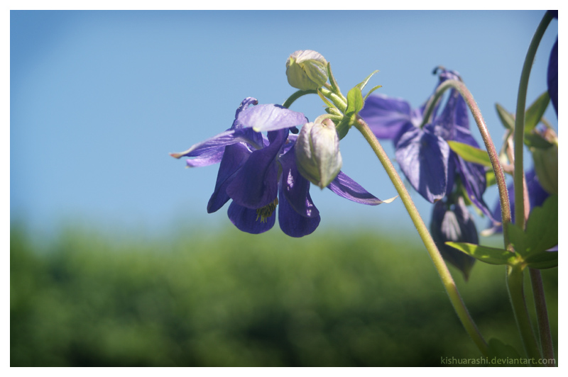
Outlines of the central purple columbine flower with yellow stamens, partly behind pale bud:
<svg viewBox="0 0 568 377">
<path fill-rule="evenodd" d="M 297 170 L 297 136 L 290 135 L 290 129 L 307 123 L 307 119 L 282 106 L 257 103 L 251 97 L 244 99 L 229 130 L 171 155 L 192 157 L 187 159 L 188 167 L 220 162 L 208 213 L 232 199 L 229 220 L 239 230 L 258 234 L 274 226 L 279 206 L 278 223 L 286 235 L 309 235 L 320 224 L 320 211 L 310 197 L 310 182 Z M 261 131 L 268 131 L 268 135 Z M 383 203 L 341 171 L 327 188 L 357 203 Z"/>
</svg>

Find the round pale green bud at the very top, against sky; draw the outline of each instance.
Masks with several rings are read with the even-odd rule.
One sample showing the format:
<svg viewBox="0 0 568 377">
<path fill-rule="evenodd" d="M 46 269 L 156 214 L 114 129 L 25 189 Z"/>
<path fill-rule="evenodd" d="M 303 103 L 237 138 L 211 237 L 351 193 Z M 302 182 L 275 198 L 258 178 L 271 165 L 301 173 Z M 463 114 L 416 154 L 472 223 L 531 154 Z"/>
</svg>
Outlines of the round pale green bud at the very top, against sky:
<svg viewBox="0 0 568 377">
<path fill-rule="evenodd" d="M 297 89 L 320 88 L 327 82 L 327 60 L 312 50 L 296 51 L 286 61 L 286 76 Z"/>
</svg>

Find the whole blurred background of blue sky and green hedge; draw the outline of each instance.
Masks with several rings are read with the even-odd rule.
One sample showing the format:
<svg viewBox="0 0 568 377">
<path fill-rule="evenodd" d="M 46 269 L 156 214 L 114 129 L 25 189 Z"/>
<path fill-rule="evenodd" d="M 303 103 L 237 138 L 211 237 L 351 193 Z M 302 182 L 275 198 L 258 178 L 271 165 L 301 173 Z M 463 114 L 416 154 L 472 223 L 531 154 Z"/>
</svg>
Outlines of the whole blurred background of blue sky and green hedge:
<svg viewBox="0 0 568 377">
<path fill-rule="evenodd" d="M 312 188 L 322 213 L 314 234 L 248 235 L 226 208 L 207 214 L 217 166 L 184 169 L 168 152 L 229 128 L 246 96 L 283 103 L 294 91 L 285 61 L 307 49 L 331 62 L 344 94 L 379 69 L 377 93 L 414 107 L 432 94 L 434 67 L 457 70 L 499 147 L 494 106 L 515 110 L 543 14 L 11 11 L 11 365 L 418 366 L 479 356 L 400 200 L 360 206 Z M 546 90 L 556 38 L 553 20 L 528 103 Z M 310 120 L 324 112 L 315 96 L 292 108 Z M 557 126 L 552 106 L 545 117 Z M 360 135 L 341 150 L 346 174 L 378 198 L 396 195 Z M 428 223 L 430 203 L 413 198 Z M 485 199 L 494 203 L 496 188 Z M 520 351 L 503 269 L 477 264 L 467 283 L 452 273 L 486 338 Z M 557 270 L 544 278 L 556 342 Z"/>
</svg>

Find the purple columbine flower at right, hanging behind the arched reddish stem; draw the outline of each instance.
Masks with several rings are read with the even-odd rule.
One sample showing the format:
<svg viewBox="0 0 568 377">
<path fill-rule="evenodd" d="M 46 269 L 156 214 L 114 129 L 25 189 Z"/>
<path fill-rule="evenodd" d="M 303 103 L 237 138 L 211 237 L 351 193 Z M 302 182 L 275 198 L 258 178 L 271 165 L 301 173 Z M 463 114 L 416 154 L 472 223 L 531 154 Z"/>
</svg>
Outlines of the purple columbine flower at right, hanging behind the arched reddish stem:
<svg viewBox="0 0 568 377">
<path fill-rule="evenodd" d="M 459 74 L 439 69 L 439 84 L 460 80 Z M 420 128 L 425 105 L 412 109 L 403 99 L 387 96 L 369 96 L 359 115 L 368 123 L 379 139 L 392 140 L 395 156 L 410 184 L 430 203 L 439 201 L 454 189 L 458 178 L 470 200 L 491 218 L 483 193 L 486 189 L 485 169 L 466 162 L 453 152 L 449 140 L 478 147 L 469 130 L 469 118 L 464 99 L 455 89 L 442 111 L 436 106 L 432 120 Z"/>
</svg>

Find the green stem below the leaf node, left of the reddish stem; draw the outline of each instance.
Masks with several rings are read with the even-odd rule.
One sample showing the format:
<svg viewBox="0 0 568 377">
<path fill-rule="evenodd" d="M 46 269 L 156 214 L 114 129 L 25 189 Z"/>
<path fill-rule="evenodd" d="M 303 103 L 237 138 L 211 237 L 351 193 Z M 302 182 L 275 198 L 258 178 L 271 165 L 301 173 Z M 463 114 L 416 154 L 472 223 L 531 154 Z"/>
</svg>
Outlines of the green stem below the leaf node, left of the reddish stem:
<svg viewBox="0 0 568 377">
<path fill-rule="evenodd" d="M 507 289 L 527 356 L 533 359 L 533 365 L 539 365 L 534 363 L 534 361 L 542 359 L 542 355 L 540 354 L 535 333 L 532 332 L 532 325 L 530 325 L 530 317 L 523 289 L 523 270 L 519 266 L 507 267 Z"/>
</svg>

